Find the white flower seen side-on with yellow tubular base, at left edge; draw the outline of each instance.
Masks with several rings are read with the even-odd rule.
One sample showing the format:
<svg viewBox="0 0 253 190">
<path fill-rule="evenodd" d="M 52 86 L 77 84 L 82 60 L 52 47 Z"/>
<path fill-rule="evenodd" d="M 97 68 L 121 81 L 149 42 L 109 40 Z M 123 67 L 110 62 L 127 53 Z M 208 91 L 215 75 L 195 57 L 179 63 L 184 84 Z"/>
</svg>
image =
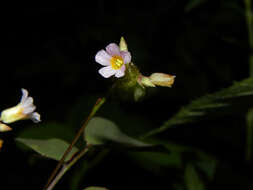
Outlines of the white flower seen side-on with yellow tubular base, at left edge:
<svg viewBox="0 0 253 190">
<path fill-rule="evenodd" d="M 40 114 L 34 112 L 36 107 L 33 105 L 33 98 L 28 97 L 28 91 L 22 90 L 22 98 L 18 105 L 5 109 L 1 113 L 0 120 L 4 123 L 12 123 L 17 120 L 31 119 L 33 122 L 40 122 Z"/>
</svg>

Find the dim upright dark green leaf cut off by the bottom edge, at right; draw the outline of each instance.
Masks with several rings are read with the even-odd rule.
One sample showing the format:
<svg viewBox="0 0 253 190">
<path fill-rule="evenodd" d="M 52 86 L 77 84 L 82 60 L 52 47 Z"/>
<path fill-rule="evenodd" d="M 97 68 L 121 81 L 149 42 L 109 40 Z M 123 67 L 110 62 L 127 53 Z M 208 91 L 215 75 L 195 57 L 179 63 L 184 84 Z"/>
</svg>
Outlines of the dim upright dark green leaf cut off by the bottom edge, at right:
<svg viewBox="0 0 253 190">
<path fill-rule="evenodd" d="M 185 185 L 187 190 L 204 190 L 205 185 L 193 165 L 188 164 L 185 169 Z"/>
</svg>

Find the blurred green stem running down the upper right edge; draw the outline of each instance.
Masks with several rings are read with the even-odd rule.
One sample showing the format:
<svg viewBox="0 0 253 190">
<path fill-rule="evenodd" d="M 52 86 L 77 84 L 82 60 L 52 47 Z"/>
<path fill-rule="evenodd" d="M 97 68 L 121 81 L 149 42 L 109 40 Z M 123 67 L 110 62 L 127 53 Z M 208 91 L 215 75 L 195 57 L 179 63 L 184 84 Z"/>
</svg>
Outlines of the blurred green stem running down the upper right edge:
<svg viewBox="0 0 253 190">
<path fill-rule="evenodd" d="M 253 76 L 253 22 L 252 22 L 252 11 L 251 11 L 251 0 L 244 0 L 245 3 L 245 18 L 248 27 L 248 38 L 249 38 L 249 65 L 250 65 L 250 76 Z"/>
</svg>

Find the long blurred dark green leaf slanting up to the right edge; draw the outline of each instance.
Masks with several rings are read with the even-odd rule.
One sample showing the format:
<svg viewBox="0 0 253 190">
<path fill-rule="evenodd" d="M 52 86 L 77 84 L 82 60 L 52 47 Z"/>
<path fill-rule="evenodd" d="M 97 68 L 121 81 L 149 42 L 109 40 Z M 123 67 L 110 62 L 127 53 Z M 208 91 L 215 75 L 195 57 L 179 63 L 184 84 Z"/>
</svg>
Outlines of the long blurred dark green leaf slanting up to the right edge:
<svg viewBox="0 0 253 190">
<path fill-rule="evenodd" d="M 149 131 L 142 138 L 161 133 L 174 125 L 196 122 L 207 116 L 221 117 L 226 111 L 231 112 L 231 106 L 236 107 L 235 112 L 242 111 L 244 107 L 252 106 L 253 78 L 236 82 L 231 87 L 214 94 L 206 95 L 192 101 L 180 109 L 171 119 L 160 128 Z M 250 97 L 249 100 L 246 97 Z M 243 101 L 242 101 L 243 99 Z M 241 109 L 238 109 L 240 107 Z M 229 108 L 229 109 L 228 109 Z M 233 111 L 233 110 L 232 110 Z"/>
</svg>

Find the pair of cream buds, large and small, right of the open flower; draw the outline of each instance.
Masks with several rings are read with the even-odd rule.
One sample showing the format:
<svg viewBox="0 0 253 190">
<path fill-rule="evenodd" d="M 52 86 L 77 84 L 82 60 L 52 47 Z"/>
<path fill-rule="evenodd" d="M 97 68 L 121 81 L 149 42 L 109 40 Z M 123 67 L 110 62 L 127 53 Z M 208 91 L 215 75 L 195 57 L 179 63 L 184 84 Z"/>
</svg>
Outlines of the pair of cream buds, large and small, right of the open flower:
<svg viewBox="0 0 253 190">
<path fill-rule="evenodd" d="M 149 77 L 141 75 L 139 77 L 138 83 L 141 86 L 146 87 L 155 87 L 155 86 L 164 86 L 171 87 L 174 83 L 174 79 L 176 76 L 168 75 L 164 73 L 153 73 Z"/>
</svg>

